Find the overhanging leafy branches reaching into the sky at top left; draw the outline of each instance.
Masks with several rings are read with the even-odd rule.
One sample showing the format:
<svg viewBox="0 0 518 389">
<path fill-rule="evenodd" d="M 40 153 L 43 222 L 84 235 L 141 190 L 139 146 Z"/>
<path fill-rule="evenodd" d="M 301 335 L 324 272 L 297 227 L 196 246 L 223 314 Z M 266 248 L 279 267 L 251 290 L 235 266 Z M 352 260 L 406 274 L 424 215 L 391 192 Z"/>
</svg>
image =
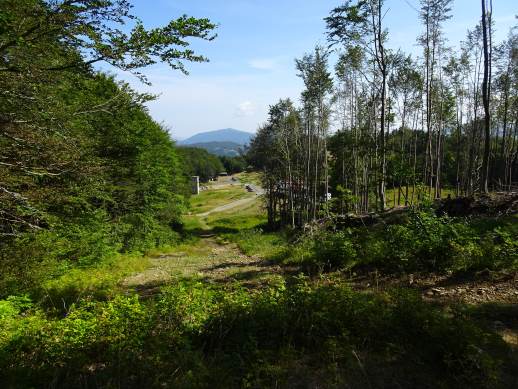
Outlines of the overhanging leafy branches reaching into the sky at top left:
<svg viewBox="0 0 518 389">
<path fill-rule="evenodd" d="M 23 4 L 6 0 L 2 8 L 1 71 L 34 67 L 31 58 L 24 55 L 28 50 L 33 56 L 46 56 L 58 45 L 74 52 L 40 64 L 38 70 L 77 69 L 104 61 L 147 81 L 141 69 L 157 62 L 187 73 L 186 61 L 208 61 L 189 48 L 189 40 L 211 41 L 216 37 L 216 25 L 209 19 L 186 15 L 163 27 L 146 29 L 143 21 L 132 15 L 126 0 L 28 0 Z"/>
</svg>

